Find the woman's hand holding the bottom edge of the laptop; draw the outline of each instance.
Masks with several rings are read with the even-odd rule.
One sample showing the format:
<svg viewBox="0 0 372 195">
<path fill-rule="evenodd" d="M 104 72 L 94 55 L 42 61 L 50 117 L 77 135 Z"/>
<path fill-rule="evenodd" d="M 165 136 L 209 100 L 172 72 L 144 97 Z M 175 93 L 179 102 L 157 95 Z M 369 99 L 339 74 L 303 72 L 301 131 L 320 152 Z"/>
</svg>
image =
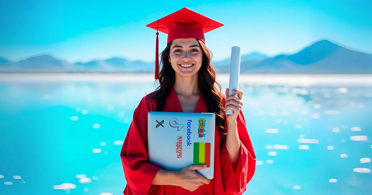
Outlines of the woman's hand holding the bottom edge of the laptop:
<svg viewBox="0 0 372 195">
<path fill-rule="evenodd" d="M 208 184 L 210 179 L 206 179 L 195 170 L 205 169 L 205 165 L 190 165 L 177 172 L 177 186 L 189 191 L 195 191 L 201 185 Z"/>
</svg>

